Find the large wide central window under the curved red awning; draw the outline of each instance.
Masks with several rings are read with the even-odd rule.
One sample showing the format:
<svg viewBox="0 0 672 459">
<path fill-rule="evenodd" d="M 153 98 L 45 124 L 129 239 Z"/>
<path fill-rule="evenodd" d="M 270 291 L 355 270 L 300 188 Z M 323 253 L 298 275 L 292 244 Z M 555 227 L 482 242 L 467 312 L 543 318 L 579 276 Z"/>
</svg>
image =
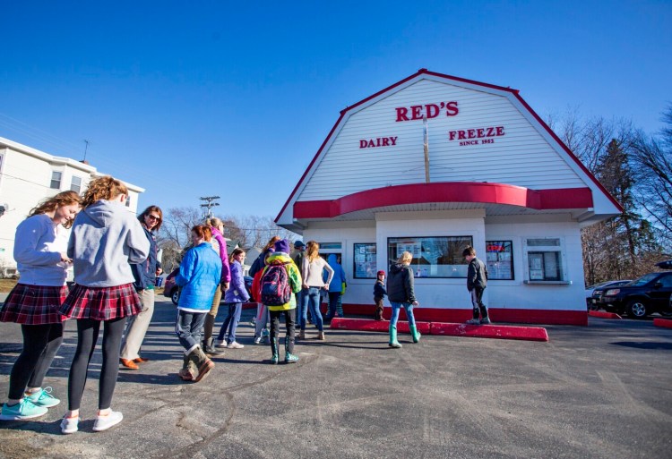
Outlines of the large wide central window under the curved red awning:
<svg viewBox="0 0 672 459">
<path fill-rule="evenodd" d="M 471 236 L 391 237 L 387 239 L 387 260 L 392 264 L 404 251 L 413 254 L 410 267 L 416 277 L 467 277 L 462 251 L 473 242 Z"/>
</svg>

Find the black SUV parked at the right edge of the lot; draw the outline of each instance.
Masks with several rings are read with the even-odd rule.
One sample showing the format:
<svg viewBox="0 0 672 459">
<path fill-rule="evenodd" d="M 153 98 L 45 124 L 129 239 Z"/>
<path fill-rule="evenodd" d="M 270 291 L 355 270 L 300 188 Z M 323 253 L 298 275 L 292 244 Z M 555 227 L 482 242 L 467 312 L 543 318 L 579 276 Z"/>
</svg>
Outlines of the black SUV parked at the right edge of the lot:
<svg viewBox="0 0 672 459">
<path fill-rule="evenodd" d="M 602 294 L 605 310 L 642 319 L 652 312 L 672 316 L 670 309 L 672 272 L 650 273 L 633 280 L 630 284 L 607 288 Z"/>
</svg>

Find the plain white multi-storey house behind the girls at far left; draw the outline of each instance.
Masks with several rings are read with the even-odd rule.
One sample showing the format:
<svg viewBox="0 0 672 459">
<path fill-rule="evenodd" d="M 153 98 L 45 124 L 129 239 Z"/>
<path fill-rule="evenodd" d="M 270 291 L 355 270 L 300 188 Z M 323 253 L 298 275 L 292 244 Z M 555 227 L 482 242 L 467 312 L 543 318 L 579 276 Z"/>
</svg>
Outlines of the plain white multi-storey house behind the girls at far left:
<svg viewBox="0 0 672 459">
<path fill-rule="evenodd" d="M 55 157 L 38 149 L 0 137 L 0 267 L 15 267 L 16 226 L 39 201 L 59 191 L 82 193 L 91 178 L 102 174 L 94 166 L 69 157 Z M 129 212 L 137 212 L 144 189 L 125 182 Z"/>
</svg>

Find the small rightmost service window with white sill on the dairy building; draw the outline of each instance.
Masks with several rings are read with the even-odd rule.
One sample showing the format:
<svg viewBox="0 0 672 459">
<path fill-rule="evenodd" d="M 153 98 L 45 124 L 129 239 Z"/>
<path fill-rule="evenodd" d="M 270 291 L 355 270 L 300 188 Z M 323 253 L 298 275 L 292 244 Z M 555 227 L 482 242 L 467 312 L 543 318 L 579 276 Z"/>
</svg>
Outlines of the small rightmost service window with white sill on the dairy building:
<svg viewBox="0 0 672 459">
<path fill-rule="evenodd" d="M 564 283 L 567 279 L 564 244 L 560 238 L 524 239 L 526 283 Z"/>
</svg>

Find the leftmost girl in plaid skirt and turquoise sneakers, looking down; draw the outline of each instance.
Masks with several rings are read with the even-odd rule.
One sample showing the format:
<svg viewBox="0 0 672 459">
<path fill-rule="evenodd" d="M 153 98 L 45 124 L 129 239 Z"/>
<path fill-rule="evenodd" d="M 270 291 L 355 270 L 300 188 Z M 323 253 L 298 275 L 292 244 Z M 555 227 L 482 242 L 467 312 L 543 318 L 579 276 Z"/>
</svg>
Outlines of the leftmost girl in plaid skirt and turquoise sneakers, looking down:
<svg viewBox="0 0 672 459">
<path fill-rule="evenodd" d="M 58 310 L 68 293 L 65 277 L 71 262 L 65 251 L 81 201 L 74 191 L 60 192 L 33 208 L 16 228 L 13 255 L 21 279 L 0 309 L 0 321 L 21 324 L 23 349 L 10 373 L 2 420 L 38 418 L 60 403 L 42 382 L 63 343 Z"/>
</svg>

